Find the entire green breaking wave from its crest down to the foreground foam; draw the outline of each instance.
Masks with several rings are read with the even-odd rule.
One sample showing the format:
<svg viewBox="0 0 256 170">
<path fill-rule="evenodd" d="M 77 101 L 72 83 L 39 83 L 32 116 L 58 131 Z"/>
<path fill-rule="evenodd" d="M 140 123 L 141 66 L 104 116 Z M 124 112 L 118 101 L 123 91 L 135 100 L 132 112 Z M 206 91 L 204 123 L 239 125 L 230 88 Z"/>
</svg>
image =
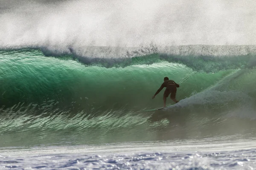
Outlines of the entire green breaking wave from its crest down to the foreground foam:
<svg viewBox="0 0 256 170">
<path fill-rule="evenodd" d="M 37 49 L 1 51 L 0 143 L 123 142 L 186 138 L 195 131 L 205 136 L 212 129 L 239 132 L 236 120 L 227 116 L 254 119 L 256 70 L 244 67 L 250 59 L 152 54 L 113 59 L 104 67 L 100 59 L 84 64 L 70 56 L 45 57 Z M 142 111 L 163 106 L 164 90 L 151 99 L 163 77 L 180 83 L 180 107 L 165 115 Z M 152 122 L 152 114 L 163 119 Z M 241 129 L 251 124 L 254 128 L 253 122 L 243 122 Z M 17 136 L 23 143 L 15 142 Z"/>
</svg>

